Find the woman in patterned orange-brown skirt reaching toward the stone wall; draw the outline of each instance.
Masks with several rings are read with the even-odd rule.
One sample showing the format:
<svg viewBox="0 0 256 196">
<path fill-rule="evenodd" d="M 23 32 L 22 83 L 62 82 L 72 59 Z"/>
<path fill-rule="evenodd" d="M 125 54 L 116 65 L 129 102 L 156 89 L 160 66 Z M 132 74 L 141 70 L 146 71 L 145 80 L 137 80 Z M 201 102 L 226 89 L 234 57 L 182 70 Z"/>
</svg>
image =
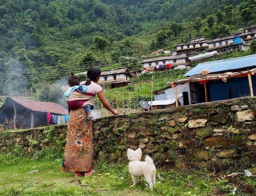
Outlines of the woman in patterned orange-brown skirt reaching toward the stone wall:
<svg viewBox="0 0 256 196">
<path fill-rule="evenodd" d="M 113 110 L 107 102 L 103 95 L 102 87 L 96 84 L 100 79 L 100 75 L 100 68 L 88 68 L 88 79 L 80 83 L 80 85 L 86 85 L 86 92 L 80 93 L 78 90 L 75 90 L 68 97 L 67 101 L 70 113 L 61 171 L 75 172 L 75 178 L 90 176 L 94 173 L 92 122 L 87 121 L 87 114 L 84 110 L 84 106 L 91 102 L 95 95 L 97 95 L 108 111 L 113 114 L 119 114 L 116 110 Z"/>
</svg>

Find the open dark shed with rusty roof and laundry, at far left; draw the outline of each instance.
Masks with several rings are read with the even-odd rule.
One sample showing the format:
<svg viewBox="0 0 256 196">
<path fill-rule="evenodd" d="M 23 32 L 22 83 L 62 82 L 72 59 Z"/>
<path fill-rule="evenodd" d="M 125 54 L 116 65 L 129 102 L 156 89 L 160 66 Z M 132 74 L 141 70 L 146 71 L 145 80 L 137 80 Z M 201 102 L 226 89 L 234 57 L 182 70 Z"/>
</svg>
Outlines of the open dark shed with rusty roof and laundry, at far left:
<svg viewBox="0 0 256 196">
<path fill-rule="evenodd" d="M 56 121 L 53 121 L 55 115 Z M 0 108 L 0 123 L 5 129 L 26 129 L 47 126 L 58 123 L 58 118 L 68 115 L 68 109 L 53 102 L 24 100 L 16 97 L 7 97 Z M 55 119 L 55 117 L 54 117 Z"/>
</svg>

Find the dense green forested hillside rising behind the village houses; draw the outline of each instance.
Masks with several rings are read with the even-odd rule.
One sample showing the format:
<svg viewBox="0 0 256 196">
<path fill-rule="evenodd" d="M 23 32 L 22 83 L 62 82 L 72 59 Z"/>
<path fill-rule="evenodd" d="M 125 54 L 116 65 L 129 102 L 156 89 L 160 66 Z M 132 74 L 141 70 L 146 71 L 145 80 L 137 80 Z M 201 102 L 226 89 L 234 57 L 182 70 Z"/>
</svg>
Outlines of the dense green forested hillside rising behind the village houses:
<svg viewBox="0 0 256 196">
<path fill-rule="evenodd" d="M 0 0 L 0 95 L 58 102 L 70 72 L 256 24 L 256 0 Z M 129 58 L 127 58 L 129 57 Z"/>
</svg>

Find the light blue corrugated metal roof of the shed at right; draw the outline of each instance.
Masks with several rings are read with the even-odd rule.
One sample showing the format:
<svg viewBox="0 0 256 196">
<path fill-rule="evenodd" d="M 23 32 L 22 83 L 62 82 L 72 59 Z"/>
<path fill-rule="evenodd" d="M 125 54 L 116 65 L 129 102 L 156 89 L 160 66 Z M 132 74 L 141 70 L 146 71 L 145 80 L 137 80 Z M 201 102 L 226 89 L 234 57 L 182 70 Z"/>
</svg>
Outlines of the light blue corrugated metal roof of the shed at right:
<svg viewBox="0 0 256 196">
<path fill-rule="evenodd" d="M 202 70 L 207 70 L 210 71 L 210 73 L 215 73 L 252 66 L 256 66 L 256 55 L 199 63 L 196 67 L 188 71 L 183 76 L 199 75 L 201 74 L 200 71 Z"/>
</svg>

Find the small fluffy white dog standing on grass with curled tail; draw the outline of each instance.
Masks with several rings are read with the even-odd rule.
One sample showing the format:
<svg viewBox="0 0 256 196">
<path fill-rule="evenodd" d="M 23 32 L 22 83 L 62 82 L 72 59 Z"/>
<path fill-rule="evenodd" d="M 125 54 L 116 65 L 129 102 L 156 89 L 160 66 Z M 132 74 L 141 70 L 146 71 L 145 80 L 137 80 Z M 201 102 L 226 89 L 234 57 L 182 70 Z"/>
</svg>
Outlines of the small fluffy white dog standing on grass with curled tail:
<svg viewBox="0 0 256 196">
<path fill-rule="evenodd" d="M 132 149 L 127 150 L 127 157 L 130 161 L 128 168 L 133 180 L 132 186 L 137 184 L 137 177 L 139 177 L 139 183 L 141 183 L 142 176 L 144 175 L 146 182 L 152 190 L 155 185 L 156 168 L 153 160 L 148 155 L 146 155 L 145 161 L 140 161 L 141 156 L 142 150 L 140 148 L 135 151 Z"/>
</svg>

